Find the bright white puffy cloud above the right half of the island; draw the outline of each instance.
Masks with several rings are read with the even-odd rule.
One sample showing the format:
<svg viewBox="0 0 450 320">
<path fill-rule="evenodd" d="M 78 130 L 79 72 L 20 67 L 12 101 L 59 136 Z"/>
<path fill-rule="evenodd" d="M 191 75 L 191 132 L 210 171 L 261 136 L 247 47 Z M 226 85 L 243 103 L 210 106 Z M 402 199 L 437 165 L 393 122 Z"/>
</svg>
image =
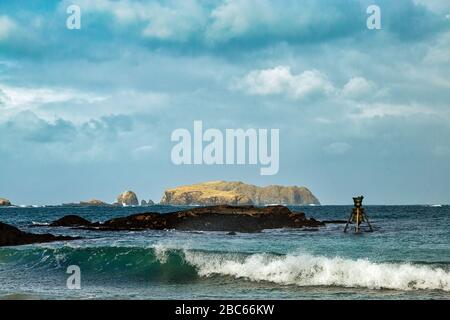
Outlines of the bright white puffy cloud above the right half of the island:
<svg viewBox="0 0 450 320">
<path fill-rule="evenodd" d="M 253 95 L 285 94 L 294 99 L 335 91 L 327 76 L 320 71 L 307 70 L 293 74 L 287 66 L 251 71 L 237 81 L 236 88 Z"/>
</svg>

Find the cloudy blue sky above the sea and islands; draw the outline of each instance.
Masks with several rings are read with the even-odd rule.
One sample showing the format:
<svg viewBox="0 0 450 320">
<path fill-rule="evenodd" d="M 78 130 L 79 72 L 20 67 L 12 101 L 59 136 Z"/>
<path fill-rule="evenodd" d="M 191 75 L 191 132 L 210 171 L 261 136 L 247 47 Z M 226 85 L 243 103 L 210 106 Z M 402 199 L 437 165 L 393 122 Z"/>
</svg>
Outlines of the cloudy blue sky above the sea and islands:
<svg viewBox="0 0 450 320">
<path fill-rule="evenodd" d="M 279 129 L 278 173 L 173 164 L 171 133 L 195 120 Z M 449 138 L 448 0 L 0 0 L 0 197 L 15 204 L 157 202 L 209 180 L 448 204 Z"/>
</svg>

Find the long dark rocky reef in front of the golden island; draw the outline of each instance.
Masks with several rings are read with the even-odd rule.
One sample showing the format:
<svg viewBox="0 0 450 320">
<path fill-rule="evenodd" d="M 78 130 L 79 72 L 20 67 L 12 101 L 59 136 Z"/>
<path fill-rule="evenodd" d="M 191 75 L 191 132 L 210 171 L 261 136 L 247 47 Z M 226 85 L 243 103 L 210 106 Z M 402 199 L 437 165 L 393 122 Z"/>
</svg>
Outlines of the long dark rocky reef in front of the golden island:
<svg viewBox="0 0 450 320">
<path fill-rule="evenodd" d="M 78 219 L 77 219 L 78 218 Z M 165 230 L 259 232 L 278 228 L 315 228 L 324 224 L 307 219 L 304 213 L 294 213 L 284 206 L 258 208 L 254 206 L 212 206 L 193 208 L 167 214 L 155 212 L 114 218 L 104 223 L 86 223 L 76 216 L 59 219 L 51 226 L 82 227 L 95 230 Z"/>
</svg>

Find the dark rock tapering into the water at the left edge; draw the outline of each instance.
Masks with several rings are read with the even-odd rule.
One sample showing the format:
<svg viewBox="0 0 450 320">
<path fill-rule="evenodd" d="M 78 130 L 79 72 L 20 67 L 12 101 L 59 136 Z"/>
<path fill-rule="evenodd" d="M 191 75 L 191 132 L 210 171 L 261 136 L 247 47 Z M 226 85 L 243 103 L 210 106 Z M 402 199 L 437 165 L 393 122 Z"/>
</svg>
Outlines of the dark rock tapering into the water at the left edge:
<svg viewBox="0 0 450 320">
<path fill-rule="evenodd" d="M 63 240 L 76 240 L 80 238 L 54 236 L 52 234 L 34 234 L 23 232 L 16 227 L 0 222 L 0 247 L 19 246 L 32 243 L 45 243 Z"/>
</svg>

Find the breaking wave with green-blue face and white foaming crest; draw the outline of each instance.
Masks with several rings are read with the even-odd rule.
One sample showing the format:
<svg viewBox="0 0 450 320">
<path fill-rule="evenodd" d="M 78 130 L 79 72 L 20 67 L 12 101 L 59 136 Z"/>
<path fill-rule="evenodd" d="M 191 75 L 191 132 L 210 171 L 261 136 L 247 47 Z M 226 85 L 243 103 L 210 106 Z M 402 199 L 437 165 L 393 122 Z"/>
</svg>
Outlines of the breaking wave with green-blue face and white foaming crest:
<svg viewBox="0 0 450 320">
<path fill-rule="evenodd" d="M 65 270 L 124 281 L 185 282 L 228 277 L 299 287 L 335 286 L 450 292 L 448 263 L 378 263 L 309 254 L 278 255 L 152 247 L 29 247 L 0 250 L 0 269 Z M 62 271 L 63 272 L 63 271 Z"/>
</svg>

